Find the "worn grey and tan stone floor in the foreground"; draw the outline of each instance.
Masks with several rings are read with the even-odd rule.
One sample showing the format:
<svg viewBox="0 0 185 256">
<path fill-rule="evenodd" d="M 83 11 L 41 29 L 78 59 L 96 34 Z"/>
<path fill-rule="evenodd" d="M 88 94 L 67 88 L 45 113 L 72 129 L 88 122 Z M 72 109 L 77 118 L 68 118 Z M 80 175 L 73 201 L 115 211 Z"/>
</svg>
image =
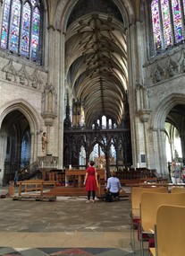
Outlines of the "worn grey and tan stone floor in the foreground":
<svg viewBox="0 0 185 256">
<path fill-rule="evenodd" d="M 87 204 L 82 197 L 55 202 L 6 197 L 0 199 L 0 218 L 0 255 L 139 255 L 139 243 L 135 253 L 130 246 L 129 199 Z"/>
</svg>

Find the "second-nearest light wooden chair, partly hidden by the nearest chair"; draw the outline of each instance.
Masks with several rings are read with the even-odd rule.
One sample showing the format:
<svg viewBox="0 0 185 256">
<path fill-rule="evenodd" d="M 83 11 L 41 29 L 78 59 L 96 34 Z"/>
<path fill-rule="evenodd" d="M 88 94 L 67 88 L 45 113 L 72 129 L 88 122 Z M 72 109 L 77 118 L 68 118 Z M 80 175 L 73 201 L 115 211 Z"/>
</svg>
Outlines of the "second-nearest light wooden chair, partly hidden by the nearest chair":
<svg viewBox="0 0 185 256">
<path fill-rule="evenodd" d="M 184 193 L 151 193 L 143 192 L 141 194 L 140 202 L 140 250 L 143 255 L 143 235 L 147 234 L 150 237 L 154 237 L 155 225 L 156 225 L 156 212 L 157 208 L 161 205 L 179 205 L 185 207 Z M 170 228 L 170 226 L 169 226 Z M 170 255 L 171 256 L 171 255 Z"/>
</svg>

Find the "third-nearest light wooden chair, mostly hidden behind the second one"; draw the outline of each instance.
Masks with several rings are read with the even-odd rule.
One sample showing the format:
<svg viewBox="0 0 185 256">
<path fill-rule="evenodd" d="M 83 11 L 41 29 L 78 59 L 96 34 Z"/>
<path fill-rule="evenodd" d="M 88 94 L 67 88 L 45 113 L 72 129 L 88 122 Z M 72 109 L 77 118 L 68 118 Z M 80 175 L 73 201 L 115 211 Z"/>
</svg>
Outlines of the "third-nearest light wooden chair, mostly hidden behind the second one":
<svg viewBox="0 0 185 256">
<path fill-rule="evenodd" d="M 140 199 L 143 192 L 160 192 L 168 193 L 167 187 L 150 187 L 150 188 L 141 188 L 141 187 L 132 187 L 130 193 L 131 200 L 131 209 L 130 209 L 130 245 L 135 251 L 135 237 L 134 230 L 139 228 L 140 222 Z"/>
</svg>

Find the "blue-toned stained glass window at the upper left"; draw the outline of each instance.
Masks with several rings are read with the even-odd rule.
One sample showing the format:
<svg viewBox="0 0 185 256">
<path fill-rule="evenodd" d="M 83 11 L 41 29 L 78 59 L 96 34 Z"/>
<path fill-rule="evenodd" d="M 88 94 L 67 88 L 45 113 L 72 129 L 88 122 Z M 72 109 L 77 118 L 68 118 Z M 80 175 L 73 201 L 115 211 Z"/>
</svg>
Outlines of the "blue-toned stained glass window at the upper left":
<svg viewBox="0 0 185 256">
<path fill-rule="evenodd" d="M 40 0 L 4 0 L 0 46 L 41 62 Z"/>
</svg>

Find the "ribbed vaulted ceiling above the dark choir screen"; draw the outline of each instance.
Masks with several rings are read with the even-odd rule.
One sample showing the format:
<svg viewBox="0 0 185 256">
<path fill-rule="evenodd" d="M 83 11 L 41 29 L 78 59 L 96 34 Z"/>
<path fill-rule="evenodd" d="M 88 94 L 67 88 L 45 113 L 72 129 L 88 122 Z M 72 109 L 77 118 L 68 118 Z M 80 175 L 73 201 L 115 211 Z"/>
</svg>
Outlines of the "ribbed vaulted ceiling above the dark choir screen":
<svg viewBox="0 0 185 256">
<path fill-rule="evenodd" d="M 122 121 L 123 100 L 128 86 L 126 33 L 122 15 L 112 3 L 91 1 L 83 12 L 84 0 L 69 18 L 65 41 L 65 72 L 74 99 L 84 104 L 85 122 L 92 125 L 105 115 Z M 96 2 L 96 3 L 95 3 Z M 87 2 L 86 2 L 87 3 Z M 89 1 L 88 1 L 89 4 Z M 75 15 L 74 15 L 75 14 Z M 75 19 L 76 18 L 76 19 Z"/>
</svg>

